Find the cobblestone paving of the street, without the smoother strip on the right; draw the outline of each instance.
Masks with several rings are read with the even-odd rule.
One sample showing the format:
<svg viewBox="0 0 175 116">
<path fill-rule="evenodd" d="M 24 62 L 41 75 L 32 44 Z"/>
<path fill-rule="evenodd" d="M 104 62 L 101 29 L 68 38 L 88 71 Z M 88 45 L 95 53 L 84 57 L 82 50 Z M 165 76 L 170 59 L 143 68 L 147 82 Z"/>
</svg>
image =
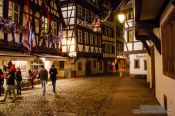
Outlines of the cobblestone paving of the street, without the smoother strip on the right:
<svg viewBox="0 0 175 116">
<path fill-rule="evenodd" d="M 40 85 L 22 91 L 15 102 L 0 103 L 0 116 L 96 116 L 104 113 L 117 78 L 82 77 L 57 81 L 57 93 L 51 83 L 42 95 Z M 2 100 L 3 97 L 0 97 Z"/>
</svg>

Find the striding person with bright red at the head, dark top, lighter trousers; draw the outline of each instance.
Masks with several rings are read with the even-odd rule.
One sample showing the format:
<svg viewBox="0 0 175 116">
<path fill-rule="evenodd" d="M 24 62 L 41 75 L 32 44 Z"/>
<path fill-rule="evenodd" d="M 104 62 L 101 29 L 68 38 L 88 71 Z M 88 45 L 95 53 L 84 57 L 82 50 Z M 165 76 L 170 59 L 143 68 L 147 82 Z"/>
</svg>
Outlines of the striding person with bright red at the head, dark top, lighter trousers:
<svg viewBox="0 0 175 116">
<path fill-rule="evenodd" d="M 15 65 L 9 65 L 8 66 L 8 74 L 6 76 L 7 89 L 6 89 L 4 100 L 3 100 L 4 102 L 6 101 L 7 94 L 10 93 L 11 90 L 12 90 L 12 94 L 13 94 L 12 102 L 14 102 L 16 100 L 16 94 L 15 94 L 15 72 L 16 72 Z"/>
</svg>

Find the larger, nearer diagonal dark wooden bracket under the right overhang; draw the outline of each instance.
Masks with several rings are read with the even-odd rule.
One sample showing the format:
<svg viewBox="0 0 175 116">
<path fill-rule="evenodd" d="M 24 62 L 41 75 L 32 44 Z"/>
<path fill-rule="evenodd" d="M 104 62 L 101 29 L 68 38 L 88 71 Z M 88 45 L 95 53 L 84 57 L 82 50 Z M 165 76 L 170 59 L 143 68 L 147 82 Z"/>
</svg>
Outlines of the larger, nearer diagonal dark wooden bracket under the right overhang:
<svg viewBox="0 0 175 116">
<path fill-rule="evenodd" d="M 154 43 L 159 54 L 161 54 L 161 41 L 160 41 L 160 39 L 154 34 L 153 29 L 145 29 L 145 31 L 148 34 L 148 37 Z"/>
</svg>

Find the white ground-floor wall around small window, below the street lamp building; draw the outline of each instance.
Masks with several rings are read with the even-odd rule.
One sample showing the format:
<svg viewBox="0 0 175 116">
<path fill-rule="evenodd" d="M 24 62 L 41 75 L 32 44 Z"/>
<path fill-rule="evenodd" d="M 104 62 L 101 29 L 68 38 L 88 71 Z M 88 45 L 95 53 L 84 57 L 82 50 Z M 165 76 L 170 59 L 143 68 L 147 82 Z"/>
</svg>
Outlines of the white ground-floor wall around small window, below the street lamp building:
<svg viewBox="0 0 175 116">
<path fill-rule="evenodd" d="M 140 57 L 138 57 L 140 56 Z M 140 60 L 140 68 L 134 68 L 134 60 Z M 129 55 L 130 61 L 130 74 L 131 75 L 146 75 L 147 70 L 144 70 L 144 60 L 146 60 L 146 54 L 131 54 Z"/>
</svg>

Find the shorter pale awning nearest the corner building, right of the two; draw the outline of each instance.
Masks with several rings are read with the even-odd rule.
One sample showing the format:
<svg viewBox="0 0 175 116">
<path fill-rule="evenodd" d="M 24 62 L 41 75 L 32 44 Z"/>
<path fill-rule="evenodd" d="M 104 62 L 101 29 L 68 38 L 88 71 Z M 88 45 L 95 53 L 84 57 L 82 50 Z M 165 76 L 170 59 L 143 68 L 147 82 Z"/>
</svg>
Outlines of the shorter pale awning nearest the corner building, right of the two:
<svg viewBox="0 0 175 116">
<path fill-rule="evenodd" d="M 66 61 L 67 57 L 51 55 L 51 54 L 33 54 L 40 58 L 45 58 L 46 61 Z"/>
</svg>

